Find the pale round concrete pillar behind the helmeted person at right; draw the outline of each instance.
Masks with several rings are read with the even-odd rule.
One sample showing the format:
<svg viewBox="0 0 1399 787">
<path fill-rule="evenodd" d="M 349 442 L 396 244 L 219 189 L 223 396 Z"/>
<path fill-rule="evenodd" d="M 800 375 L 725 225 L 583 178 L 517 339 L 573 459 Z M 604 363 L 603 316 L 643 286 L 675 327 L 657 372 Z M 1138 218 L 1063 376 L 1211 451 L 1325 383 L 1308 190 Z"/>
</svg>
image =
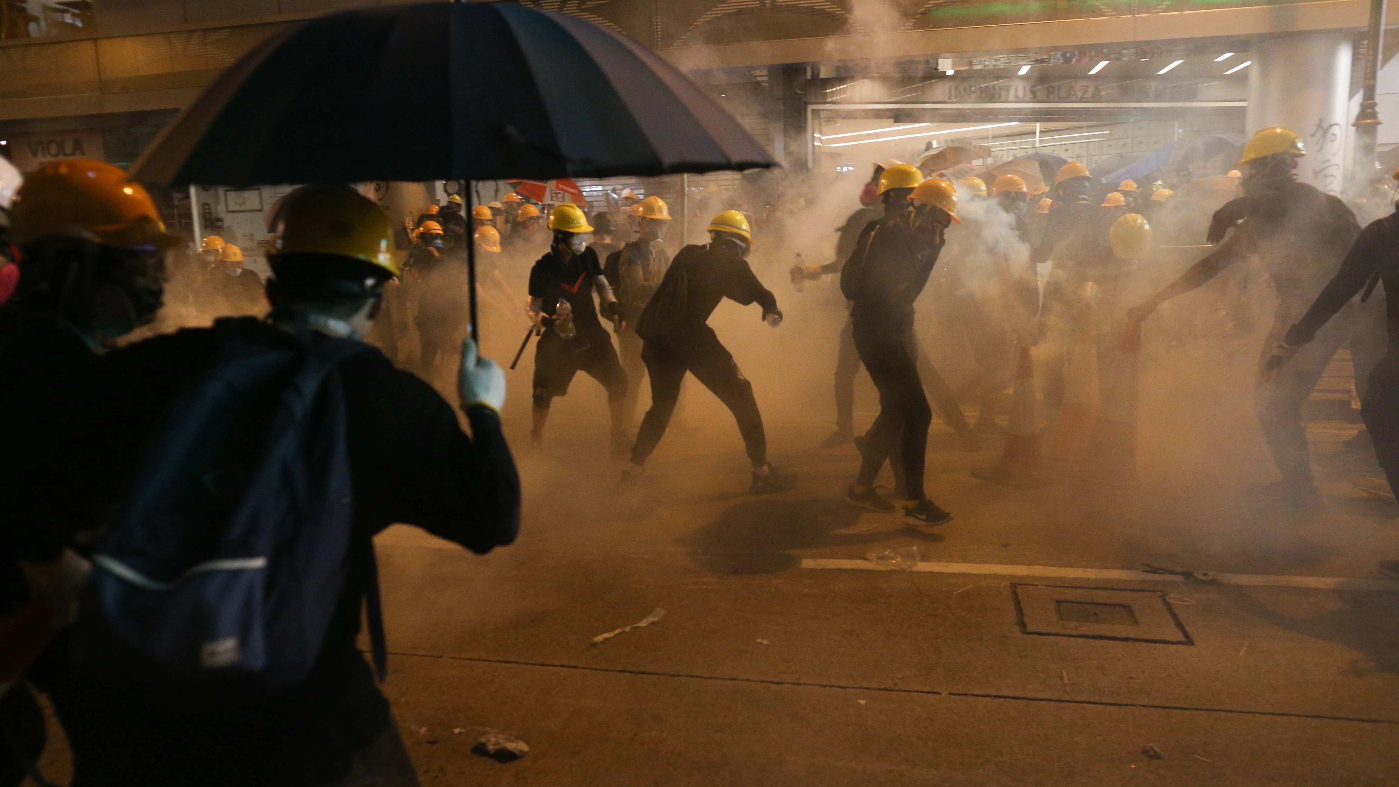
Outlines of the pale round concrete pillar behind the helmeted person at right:
<svg viewBox="0 0 1399 787">
<path fill-rule="evenodd" d="M 1351 118 L 1351 36 L 1315 32 L 1254 45 L 1248 71 L 1248 133 L 1286 126 L 1307 144 L 1297 178 L 1339 195 Z"/>
</svg>

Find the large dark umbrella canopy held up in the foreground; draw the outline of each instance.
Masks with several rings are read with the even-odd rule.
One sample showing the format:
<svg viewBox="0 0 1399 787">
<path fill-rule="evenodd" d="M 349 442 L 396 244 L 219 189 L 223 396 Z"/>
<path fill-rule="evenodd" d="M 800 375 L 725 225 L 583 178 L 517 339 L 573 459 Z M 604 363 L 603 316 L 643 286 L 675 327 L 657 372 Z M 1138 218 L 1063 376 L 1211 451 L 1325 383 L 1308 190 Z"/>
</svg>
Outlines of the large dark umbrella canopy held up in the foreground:
<svg viewBox="0 0 1399 787">
<path fill-rule="evenodd" d="M 141 155 L 164 186 L 662 175 L 772 167 L 686 76 L 513 3 L 365 7 L 229 66 Z"/>
</svg>

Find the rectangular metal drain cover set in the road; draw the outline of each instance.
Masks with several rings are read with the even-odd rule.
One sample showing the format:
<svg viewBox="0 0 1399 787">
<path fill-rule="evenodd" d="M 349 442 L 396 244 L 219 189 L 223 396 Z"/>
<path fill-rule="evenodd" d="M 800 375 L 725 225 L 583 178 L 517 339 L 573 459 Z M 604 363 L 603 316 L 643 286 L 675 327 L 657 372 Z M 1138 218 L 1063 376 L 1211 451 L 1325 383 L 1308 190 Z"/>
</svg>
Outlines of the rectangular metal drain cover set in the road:
<svg viewBox="0 0 1399 787">
<path fill-rule="evenodd" d="M 1027 634 L 1193 646 L 1161 591 L 1011 584 Z"/>
</svg>

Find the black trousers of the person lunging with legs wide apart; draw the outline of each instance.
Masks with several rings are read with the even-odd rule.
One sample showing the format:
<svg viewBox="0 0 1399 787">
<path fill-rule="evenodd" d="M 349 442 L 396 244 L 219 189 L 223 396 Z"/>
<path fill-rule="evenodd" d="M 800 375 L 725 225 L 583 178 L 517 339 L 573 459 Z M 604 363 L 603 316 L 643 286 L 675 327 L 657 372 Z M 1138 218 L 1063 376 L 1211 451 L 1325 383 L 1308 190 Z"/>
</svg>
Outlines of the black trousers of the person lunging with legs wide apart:
<svg viewBox="0 0 1399 787">
<path fill-rule="evenodd" d="M 739 364 L 719 343 L 713 330 L 705 326 L 686 336 L 646 342 L 641 350 L 641 360 L 645 361 L 646 372 L 651 375 L 651 409 L 637 430 L 637 444 L 631 450 L 632 464 L 645 464 L 660 444 L 660 437 L 670 426 L 670 416 L 676 412 L 680 382 L 686 372 L 695 375 L 695 379 L 712 391 L 733 413 L 753 466 L 767 464 L 768 438 L 762 431 L 758 401 L 753 398 L 753 384 L 739 371 Z"/>
</svg>

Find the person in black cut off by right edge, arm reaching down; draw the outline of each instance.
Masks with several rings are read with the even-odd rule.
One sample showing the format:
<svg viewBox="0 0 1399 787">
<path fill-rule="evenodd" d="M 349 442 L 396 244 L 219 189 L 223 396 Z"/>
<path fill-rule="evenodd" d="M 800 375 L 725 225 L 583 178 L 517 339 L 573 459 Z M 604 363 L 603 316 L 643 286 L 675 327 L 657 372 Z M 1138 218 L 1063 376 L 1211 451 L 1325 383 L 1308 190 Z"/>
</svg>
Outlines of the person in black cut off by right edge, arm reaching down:
<svg viewBox="0 0 1399 787">
<path fill-rule="evenodd" d="M 1395 175 L 1399 179 L 1399 171 Z M 1263 364 L 1263 374 L 1276 375 L 1286 370 L 1291 358 L 1316 339 L 1322 326 L 1347 308 L 1356 293 L 1364 290 L 1361 300 L 1368 300 L 1381 283 L 1385 287 L 1389 350 L 1370 372 L 1370 386 L 1360 399 L 1360 417 L 1374 441 L 1375 461 L 1385 471 L 1391 492 L 1399 496 L 1399 211 L 1372 221 L 1360 232 L 1336 276 L 1316 295 L 1307 314 L 1283 335 L 1281 343 Z M 1379 570 L 1399 578 L 1399 560 L 1384 560 Z"/>
</svg>

